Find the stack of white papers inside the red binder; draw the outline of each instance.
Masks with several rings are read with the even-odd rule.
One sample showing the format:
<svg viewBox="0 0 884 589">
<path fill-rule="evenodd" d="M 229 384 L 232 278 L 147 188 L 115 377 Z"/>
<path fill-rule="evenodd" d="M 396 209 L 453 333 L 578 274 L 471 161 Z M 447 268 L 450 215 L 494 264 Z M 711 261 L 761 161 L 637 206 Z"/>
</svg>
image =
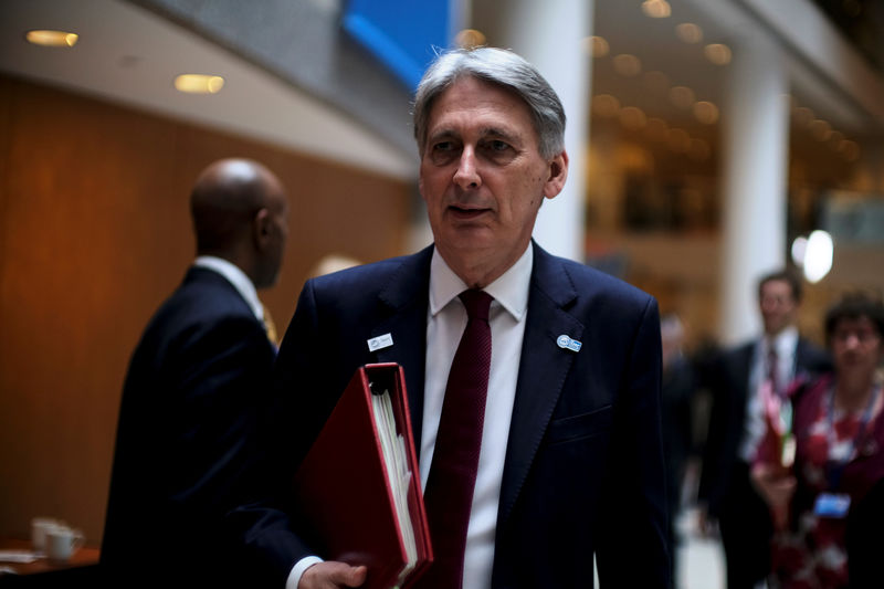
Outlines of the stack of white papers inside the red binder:
<svg viewBox="0 0 884 589">
<path fill-rule="evenodd" d="M 418 562 L 418 545 L 414 540 L 414 528 L 411 525 L 411 514 L 408 506 L 408 488 L 411 483 L 411 471 L 408 470 L 406 460 L 406 442 L 396 431 L 396 417 L 390 400 L 390 392 L 385 390 L 381 395 L 371 396 L 371 408 L 375 424 L 378 428 L 383 463 L 387 466 L 387 481 L 392 490 L 396 514 L 399 518 L 399 528 L 402 534 L 402 544 L 406 547 L 408 564 L 399 574 L 399 585 L 414 569 Z"/>
</svg>

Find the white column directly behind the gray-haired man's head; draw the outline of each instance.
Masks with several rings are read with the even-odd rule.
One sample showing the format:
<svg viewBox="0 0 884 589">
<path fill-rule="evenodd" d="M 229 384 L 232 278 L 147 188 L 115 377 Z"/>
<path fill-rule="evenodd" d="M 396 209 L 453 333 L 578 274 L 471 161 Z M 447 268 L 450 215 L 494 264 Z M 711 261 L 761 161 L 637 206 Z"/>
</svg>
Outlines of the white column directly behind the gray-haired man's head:
<svg viewBox="0 0 884 589">
<path fill-rule="evenodd" d="M 565 148 L 570 166 L 565 190 L 540 208 L 534 236 L 547 251 L 583 261 L 585 154 L 589 141 L 591 67 L 582 41 L 592 31 L 594 0 L 497 2 L 496 22 L 477 22 L 492 44 L 528 60 L 559 95 L 568 117 Z"/>
</svg>

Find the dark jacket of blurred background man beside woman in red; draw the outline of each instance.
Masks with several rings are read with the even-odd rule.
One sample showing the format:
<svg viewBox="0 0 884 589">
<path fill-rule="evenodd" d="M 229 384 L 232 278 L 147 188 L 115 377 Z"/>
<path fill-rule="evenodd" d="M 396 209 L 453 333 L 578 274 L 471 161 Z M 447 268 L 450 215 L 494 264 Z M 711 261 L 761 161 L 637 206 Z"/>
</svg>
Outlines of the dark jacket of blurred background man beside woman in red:
<svg viewBox="0 0 884 589">
<path fill-rule="evenodd" d="M 757 340 L 753 340 L 727 350 L 715 362 L 698 492 L 709 516 L 720 524 L 723 541 L 743 555 L 743 562 L 728 562 L 728 570 L 746 578 L 749 586 L 754 582 L 748 579 L 761 580 L 770 570 L 769 543 L 774 533 L 767 504 L 751 485 L 749 465 L 739 456 L 746 404 L 748 396 L 755 395 L 749 390 L 749 379 L 756 345 Z M 825 351 L 804 338 L 798 339 L 794 355 L 797 378 L 831 367 Z"/>
</svg>

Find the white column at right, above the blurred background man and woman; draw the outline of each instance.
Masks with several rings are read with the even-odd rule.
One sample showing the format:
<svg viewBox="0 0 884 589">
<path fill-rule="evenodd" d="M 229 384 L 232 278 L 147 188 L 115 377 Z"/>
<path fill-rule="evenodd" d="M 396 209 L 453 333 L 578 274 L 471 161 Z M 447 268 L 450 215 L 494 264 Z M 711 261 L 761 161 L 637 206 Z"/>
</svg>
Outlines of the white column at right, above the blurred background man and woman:
<svg viewBox="0 0 884 589">
<path fill-rule="evenodd" d="M 786 263 L 788 82 L 778 48 L 744 39 L 722 108 L 720 338 L 760 330 L 757 282 Z"/>
</svg>

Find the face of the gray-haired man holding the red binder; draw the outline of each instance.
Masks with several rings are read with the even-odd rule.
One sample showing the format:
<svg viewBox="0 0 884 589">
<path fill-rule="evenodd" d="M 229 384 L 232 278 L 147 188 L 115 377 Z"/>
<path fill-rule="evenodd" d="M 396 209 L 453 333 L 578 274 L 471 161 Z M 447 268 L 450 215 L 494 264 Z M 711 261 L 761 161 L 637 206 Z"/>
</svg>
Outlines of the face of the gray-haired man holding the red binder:
<svg viewBox="0 0 884 589">
<path fill-rule="evenodd" d="M 567 154 L 544 159 L 528 106 L 473 77 L 435 98 L 420 147 L 420 190 L 439 252 L 465 281 L 477 266 L 493 281 L 525 252 L 544 197 L 565 185 Z"/>
</svg>

